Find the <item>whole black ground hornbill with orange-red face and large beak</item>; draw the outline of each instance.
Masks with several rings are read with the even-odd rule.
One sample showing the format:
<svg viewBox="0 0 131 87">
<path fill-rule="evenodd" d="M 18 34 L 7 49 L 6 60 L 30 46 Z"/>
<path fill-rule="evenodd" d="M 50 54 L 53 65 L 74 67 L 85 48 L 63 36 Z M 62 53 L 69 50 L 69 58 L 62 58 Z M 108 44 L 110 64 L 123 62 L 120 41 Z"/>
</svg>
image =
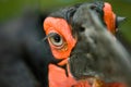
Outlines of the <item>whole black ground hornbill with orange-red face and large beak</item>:
<svg viewBox="0 0 131 87">
<path fill-rule="evenodd" d="M 1 24 L 1 87 L 130 86 L 130 57 L 115 37 L 123 17 L 109 3 L 61 9 L 44 27 L 34 26 L 37 15 L 24 17 Z"/>
</svg>

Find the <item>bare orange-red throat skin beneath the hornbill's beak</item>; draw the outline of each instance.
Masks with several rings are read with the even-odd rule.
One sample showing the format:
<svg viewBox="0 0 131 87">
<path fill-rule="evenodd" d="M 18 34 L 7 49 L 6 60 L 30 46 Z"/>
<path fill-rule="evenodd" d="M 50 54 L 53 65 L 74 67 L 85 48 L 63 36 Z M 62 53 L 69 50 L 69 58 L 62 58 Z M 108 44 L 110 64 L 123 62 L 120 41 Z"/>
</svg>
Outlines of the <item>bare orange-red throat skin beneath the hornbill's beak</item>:
<svg viewBox="0 0 131 87">
<path fill-rule="evenodd" d="M 58 67 L 55 64 L 49 65 L 49 87 L 92 87 L 87 80 L 75 80 L 69 72 L 69 76 L 66 75 L 66 71 Z M 97 86 L 99 87 L 99 86 Z M 100 87 L 127 87 L 121 83 L 108 83 Z"/>
</svg>

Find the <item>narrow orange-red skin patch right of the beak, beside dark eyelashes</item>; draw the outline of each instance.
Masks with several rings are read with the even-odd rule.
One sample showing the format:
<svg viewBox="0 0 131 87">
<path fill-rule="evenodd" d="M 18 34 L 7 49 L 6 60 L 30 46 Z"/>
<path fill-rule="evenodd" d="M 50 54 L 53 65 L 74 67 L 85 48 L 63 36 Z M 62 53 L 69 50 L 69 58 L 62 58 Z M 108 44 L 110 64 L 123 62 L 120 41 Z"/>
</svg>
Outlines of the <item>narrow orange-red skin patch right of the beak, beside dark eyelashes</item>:
<svg viewBox="0 0 131 87">
<path fill-rule="evenodd" d="M 104 4 L 104 21 L 107 25 L 107 28 L 112 34 L 116 33 L 116 14 L 111 10 L 111 5 L 107 2 Z"/>
</svg>

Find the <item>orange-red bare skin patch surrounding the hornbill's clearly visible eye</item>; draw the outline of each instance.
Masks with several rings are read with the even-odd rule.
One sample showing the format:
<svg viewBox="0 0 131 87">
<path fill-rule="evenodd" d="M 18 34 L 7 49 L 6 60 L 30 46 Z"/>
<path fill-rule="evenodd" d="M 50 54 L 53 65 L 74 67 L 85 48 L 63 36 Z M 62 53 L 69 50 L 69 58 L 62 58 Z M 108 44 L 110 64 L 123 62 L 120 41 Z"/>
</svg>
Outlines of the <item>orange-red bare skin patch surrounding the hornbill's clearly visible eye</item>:
<svg viewBox="0 0 131 87">
<path fill-rule="evenodd" d="M 72 36 L 71 26 L 67 23 L 64 18 L 58 17 L 47 17 L 44 22 L 44 29 L 46 35 L 49 33 L 57 33 L 64 38 L 67 46 L 59 49 L 60 47 L 53 46 L 50 41 L 50 48 L 52 54 L 56 59 L 67 59 L 69 58 L 72 48 L 76 44 L 76 39 Z M 66 63 L 67 61 L 64 61 Z"/>
</svg>

